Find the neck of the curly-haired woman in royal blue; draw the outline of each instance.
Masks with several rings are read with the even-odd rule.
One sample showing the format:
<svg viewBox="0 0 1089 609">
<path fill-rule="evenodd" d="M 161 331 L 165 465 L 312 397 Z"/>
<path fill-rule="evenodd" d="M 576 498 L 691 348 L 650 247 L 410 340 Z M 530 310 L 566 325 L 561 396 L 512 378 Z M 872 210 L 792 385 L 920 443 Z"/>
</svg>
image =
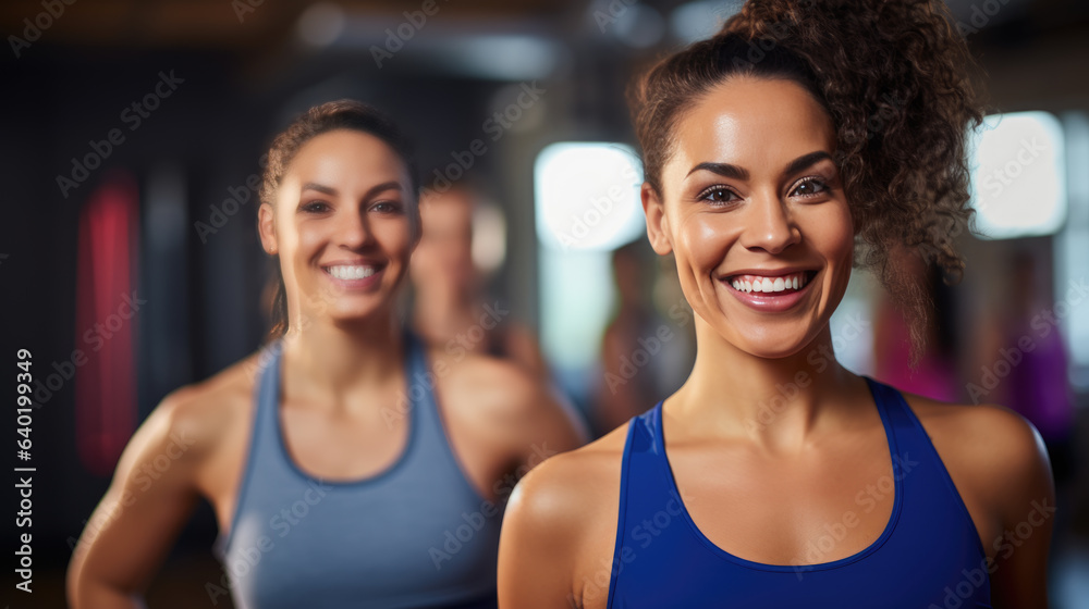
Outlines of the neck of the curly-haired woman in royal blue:
<svg viewBox="0 0 1089 609">
<path fill-rule="evenodd" d="M 747 353 L 698 316 L 696 341 L 692 374 L 665 400 L 671 415 L 699 421 L 690 426 L 695 435 L 744 437 L 770 449 L 792 450 L 868 395 L 865 382 L 836 362 L 827 326 L 807 347 L 785 358 Z"/>
</svg>

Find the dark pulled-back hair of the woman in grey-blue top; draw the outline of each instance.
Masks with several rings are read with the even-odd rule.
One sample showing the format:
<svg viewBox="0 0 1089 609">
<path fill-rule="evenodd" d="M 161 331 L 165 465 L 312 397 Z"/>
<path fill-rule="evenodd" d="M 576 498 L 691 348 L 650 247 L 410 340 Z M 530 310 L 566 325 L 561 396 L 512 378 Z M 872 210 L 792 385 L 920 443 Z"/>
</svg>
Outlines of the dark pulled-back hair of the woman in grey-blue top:
<svg viewBox="0 0 1089 609">
<path fill-rule="evenodd" d="M 419 171 L 416 163 L 416 152 L 412 141 L 393 121 L 379 110 L 365 103 L 341 99 L 310 108 L 287 125 L 272 140 L 265 166 L 261 183 L 261 203 L 276 209 L 277 190 L 283 181 L 287 166 L 295 153 L 304 144 L 315 137 L 338 129 L 348 129 L 372 135 L 384 141 L 401 157 L 408 173 L 409 191 L 405 194 L 412 206 L 412 229 L 414 236 L 419 234 L 418 194 Z M 280 338 L 287 332 L 287 293 L 283 284 L 279 260 L 276 264 L 276 284 L 272 291 L 272 327 L 269 338 Z"/>
</svg>

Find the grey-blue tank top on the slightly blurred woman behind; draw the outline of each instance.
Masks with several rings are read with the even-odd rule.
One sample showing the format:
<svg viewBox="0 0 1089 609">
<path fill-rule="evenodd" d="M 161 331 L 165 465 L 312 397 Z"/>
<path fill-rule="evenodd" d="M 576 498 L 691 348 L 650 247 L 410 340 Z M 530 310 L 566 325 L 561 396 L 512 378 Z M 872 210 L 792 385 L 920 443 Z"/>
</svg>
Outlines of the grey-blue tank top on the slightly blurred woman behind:
<svg viewBox="0 0 1089 609">
<path fill-rule="evenodd" d="M 280 356 L 261 355 L 237 508 L 217 542 L 240 609 L 494 608 L 501 508 L 469 484 L 446 442 L 424 347 L 408 335 L 408 442 L 358 481 L 319 480 L 280 428 Z"/>
</svg>

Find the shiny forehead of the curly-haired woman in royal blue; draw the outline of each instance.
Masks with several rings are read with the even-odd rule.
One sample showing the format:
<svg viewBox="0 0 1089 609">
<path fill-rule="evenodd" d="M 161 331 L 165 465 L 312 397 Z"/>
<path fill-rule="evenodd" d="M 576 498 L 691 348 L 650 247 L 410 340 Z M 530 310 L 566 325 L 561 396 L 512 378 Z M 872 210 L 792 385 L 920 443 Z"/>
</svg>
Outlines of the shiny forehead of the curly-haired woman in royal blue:
<svg viewBox="0 0 1089 609">
<path fill-rule="evenodd" d="M 781 165 L 835 147 L 832 120 L 802 85 L 738 76 L 714 86 L 677 123 L 674 160 L 687 172 L 701 162 L 749 171 Z"/>
</svg>

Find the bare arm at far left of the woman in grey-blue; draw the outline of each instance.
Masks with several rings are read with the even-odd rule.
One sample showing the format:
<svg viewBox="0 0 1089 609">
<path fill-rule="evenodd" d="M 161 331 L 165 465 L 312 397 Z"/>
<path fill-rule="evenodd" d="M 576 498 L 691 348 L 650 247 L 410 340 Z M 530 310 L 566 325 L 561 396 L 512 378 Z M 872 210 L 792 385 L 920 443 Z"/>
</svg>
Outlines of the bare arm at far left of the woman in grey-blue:
<svg viewBox="0 0 1089 609">
<path fill-rule="evenodd" d="M 199 443 L 178 410 L 168 397 L 125 448 L 69 566 L 74 609 L 143 607 L 140 596 L 193 512 Z"/>
</svg>

